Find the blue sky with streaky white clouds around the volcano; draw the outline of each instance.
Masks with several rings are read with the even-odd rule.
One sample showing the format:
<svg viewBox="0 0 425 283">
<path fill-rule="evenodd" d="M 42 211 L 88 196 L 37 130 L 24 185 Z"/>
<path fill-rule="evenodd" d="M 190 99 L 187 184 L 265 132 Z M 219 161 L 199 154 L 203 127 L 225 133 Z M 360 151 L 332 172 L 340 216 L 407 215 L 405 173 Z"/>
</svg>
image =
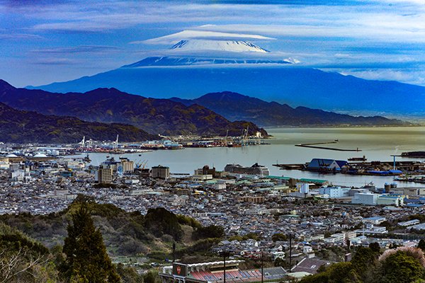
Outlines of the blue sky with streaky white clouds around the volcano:
<svg viewBox="0 0 425 283">
<path fill-rule="evenodd" d="M 425 0 L 0 0 L 0 79 L 97 74 L 166 54 L 171 41 L 152 39 L 182 30 L 271 37 L 250 40 L 304 66 L 425 86 Z"/>
</svg>

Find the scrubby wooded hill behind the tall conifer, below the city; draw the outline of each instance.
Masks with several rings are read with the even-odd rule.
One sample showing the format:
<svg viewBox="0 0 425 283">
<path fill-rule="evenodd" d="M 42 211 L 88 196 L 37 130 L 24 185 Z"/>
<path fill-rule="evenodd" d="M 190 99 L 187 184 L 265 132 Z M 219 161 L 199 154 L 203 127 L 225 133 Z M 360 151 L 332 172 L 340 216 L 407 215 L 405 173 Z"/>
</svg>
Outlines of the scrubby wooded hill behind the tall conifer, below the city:
<svg viewBox="0 0 425 283">
<path fill-rule="evenodd" d="M 215 241 L 208 238 L 224 236 L 224 233 L 217 233 L 211 228 L 205 230 L 195 219 L 173 214 L 164 208 L 149 209 L 146 215 L 142 215 L 140 212 L 125 212 L 113 204 L 98 204 L 82 195 L 62 212 L 49 215 L 1 215 L 0 222 L 26 233 L 47 248 L 62 246 L 67 236 L 67 224 L 81 203 L 87 203 L 95 226 L 103 234 L 108 253 L 113 256 L 154 254 L 154 258 L 165 259 L 170 258 L 174 242 L 179 251 L 191 248 L 191 243 L 195 246 L 198 241 L 213 243 Z M 192 241 L 183 243 L 183 238 L 191 238 Z"/>
</svg>

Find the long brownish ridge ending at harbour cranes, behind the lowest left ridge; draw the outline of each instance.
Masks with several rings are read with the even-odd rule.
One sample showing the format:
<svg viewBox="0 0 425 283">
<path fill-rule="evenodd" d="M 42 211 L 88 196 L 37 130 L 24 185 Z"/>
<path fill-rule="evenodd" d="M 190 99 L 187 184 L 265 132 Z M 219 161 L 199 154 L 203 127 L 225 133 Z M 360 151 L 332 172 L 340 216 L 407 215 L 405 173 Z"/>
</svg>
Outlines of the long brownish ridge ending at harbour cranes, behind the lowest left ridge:
<svg viewBox="0 0 425 283">
<path fill-rule="evenodd" d="M 123 123 L 155 134 L 203 134 L 239 136 L 263 132 L 252 122 L 230 122 L 200 105 L 186 106 L 167 99 L 145 98 L 115 88 L 86 93 L 50 93 L 14 88 L 0 80 L 0 102 L 44 115 L 73 116 L 90 122 Z"/>
</svg>

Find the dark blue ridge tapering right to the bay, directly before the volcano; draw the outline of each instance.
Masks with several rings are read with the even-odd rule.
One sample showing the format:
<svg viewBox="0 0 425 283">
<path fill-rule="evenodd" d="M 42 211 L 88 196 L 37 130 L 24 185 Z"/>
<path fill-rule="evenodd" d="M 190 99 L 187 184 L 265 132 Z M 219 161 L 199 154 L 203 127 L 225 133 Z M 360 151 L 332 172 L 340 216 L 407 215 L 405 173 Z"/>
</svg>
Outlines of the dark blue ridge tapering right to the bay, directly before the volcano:
<svg viewBox="0 0 425 283">
<path fill-rule="evenodd" d="M 223 91 L 207 93 L 200 98 L 171 100 L 192 105 L 194 103 L 223 115 L 229 120 L 248 120 L 261 127 L 276 126 L 317 126 L 317 125 L 408 125 L 401 120 L 387 119 L 382 116 L 354 117 L 351 115 L 327 112 L 302 106 L 292 108 L 287 104 L 266 102 L 239 93 Z"/>
</svg>

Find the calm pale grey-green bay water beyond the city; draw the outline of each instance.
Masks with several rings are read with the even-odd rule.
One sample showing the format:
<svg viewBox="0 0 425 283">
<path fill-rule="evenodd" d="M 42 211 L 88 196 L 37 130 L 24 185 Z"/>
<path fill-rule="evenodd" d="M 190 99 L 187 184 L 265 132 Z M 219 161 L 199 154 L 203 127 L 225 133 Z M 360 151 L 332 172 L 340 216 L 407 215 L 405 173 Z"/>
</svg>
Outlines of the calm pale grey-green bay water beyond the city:
<svg viewBox="0 0 425 283">
<path fill-rule="evenodd" d="M 223 170 L 227 163 L 251 166 L 258 162 L 267 166 L 271 175 L 293 178 L 314 178 L 329 180 L 335 185 L 361 186 L 373 181 L 383 186 L 392 183 L 392 177 L 353 176 L 344 174 L 318 174 L 305 171 L 283 171 L 272 166 L 278 163 L 305 163 L 312 158 L 346 160 L 363 155 L 368 161 L 392 161 L 392 154 L 403 151 L 425 151 L 425 127 L 346 127 L 346 128 L 278 128 L 268 129 L 273 139 L 268 145 L 245 146 L 240 148 L 183 149 L 176 151 L 152 151 L 140 154 L 124 154 L 133 161 L 147 161 L 147 166 L 169 166 L 171 173 L 193 173 L 204 165 Z M 305 144 L 338 139 L 338 144 L 329 147 L 339 149 L 361 149 L 359 152 L 330 151 L 297 147 Z M 111 154 L 90 154 L 92 164 L 98 165 Z M 118 158 L 119 156 L 115 156 Z M 400 158 L 397 160 L 410 160 Z M 423 160 L 422 160 L 423 161 Z M 414 183 L 398 183 L 399 186 L 424 186 Z"/>
</svg>

